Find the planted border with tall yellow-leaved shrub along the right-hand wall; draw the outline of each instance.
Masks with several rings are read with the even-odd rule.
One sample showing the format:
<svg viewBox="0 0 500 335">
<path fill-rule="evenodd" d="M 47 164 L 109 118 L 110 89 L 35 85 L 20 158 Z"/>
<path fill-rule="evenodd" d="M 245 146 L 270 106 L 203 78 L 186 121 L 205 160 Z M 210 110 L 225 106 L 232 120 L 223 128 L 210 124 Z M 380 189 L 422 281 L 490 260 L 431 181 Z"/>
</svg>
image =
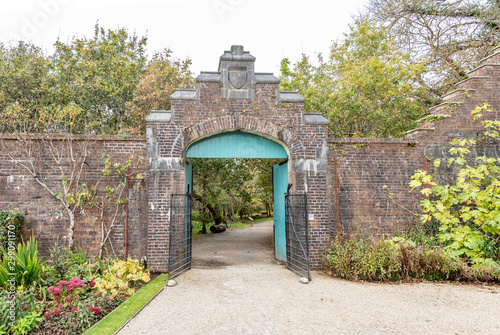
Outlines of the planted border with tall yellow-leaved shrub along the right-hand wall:
<svg viewBox="0 0 500 335">
<path fill-rule="evenodd" d="M 339 235 L 326 250 L 327 272 L 351 280 L 500 282 L 500 121 L 488 117 L 492 113 L 487 104 L 472 111 L 485 128 L 479 139 L 450 142 L 447 163 L 456 171 L 454 179 L 439 185 L 426 171 L 412 176 L 411 190 L 426 197 L 421 226 L 386 240 Z M 479 141 L 494 146 L 496 157 L 475 157 Z"/>
</svg>

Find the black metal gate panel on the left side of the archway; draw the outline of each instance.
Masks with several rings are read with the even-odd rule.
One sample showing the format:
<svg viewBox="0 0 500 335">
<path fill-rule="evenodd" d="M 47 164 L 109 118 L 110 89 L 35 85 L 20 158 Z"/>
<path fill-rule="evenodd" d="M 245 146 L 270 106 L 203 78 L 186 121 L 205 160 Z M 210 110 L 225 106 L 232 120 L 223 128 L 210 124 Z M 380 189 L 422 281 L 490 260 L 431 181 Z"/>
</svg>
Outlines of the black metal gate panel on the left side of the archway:
<svg viewBox="0 0 500 335">
<path fill-rule="evenodd" d="M 172 194 L 170 197 L 170 238 L 168 275 L 174 278 L 191 269 L 191 195 Z"/>
</svg>

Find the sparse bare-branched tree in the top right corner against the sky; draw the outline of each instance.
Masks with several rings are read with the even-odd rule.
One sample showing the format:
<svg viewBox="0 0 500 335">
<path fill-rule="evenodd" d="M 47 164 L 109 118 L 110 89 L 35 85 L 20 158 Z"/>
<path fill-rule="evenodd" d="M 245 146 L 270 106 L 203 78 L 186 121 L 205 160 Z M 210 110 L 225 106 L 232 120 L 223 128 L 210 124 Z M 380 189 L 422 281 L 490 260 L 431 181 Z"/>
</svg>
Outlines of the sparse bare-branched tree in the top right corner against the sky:
<svg viewBox="0 0 500 335">
<path fill-rule="evenodd" d="M 499 0 L 370 0 L 363 15 L 383 24 L 401 52 L 425 65 L 420 84 L 440 101 L 500 42 Z"/>
</svg>

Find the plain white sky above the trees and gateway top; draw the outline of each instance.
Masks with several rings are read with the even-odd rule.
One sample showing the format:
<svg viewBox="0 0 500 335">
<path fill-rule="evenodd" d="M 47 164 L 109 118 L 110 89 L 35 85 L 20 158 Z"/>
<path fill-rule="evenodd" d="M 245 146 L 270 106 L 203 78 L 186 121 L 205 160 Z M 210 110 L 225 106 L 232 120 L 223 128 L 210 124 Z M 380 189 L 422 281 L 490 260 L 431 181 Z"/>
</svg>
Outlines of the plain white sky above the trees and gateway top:
<svg viewBox="0 0 500 335">
<path fill-rule="evenodd" d="M 148 36 L 148 50 L 169 47 L 192 70 L 216 71 L 241 44 L 257 72 L 279 74 L 282 58 L 327 53 L 368 0 L 0 0 L 0 42 L 31 40 L 52 51 L 59 37 L 91 37 L 94 25 Z"/>
</svg>

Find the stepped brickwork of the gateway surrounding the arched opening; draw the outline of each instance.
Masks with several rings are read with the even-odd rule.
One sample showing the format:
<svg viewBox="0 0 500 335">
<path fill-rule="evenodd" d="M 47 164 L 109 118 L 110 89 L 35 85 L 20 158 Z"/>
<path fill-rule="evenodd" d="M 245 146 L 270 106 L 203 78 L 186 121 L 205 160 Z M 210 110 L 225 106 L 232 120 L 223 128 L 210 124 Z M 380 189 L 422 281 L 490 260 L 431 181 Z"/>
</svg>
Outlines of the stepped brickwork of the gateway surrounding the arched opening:
<svg viewBox="0 0 500 335">
<path fill-rule="evenodd" d="M 303 103 L 279 103 L 278 84 L 257 84 L 255 99 L 222 99 L 218 83 L 197 82 L 199 101 L 173 100 L 171 123 L 147 125 L 150 148 L 159 158 L 178 159 L 197 140 L 226 131 L 241 130 L 272 139 L 289 153 L 289 182 L 293 191 L 308 192 L 314 214 L 310 230 L 310 254 L 314 267 L 320 265 L 320 253 L 330 235 L 326 187 L 327 126 L 302 124 Z M 308 165 L 323 160 L 323 169 Z M 305 163 L 304 163 L 305 162 Z M 182 192 L 184 167 L 178 171 L 151 171 L 149 180 L 149 264 L 166 270 L 168 260 L 169 194 Z M 297 170 L 297 171 L 296 171 Z"/>
</svg>

